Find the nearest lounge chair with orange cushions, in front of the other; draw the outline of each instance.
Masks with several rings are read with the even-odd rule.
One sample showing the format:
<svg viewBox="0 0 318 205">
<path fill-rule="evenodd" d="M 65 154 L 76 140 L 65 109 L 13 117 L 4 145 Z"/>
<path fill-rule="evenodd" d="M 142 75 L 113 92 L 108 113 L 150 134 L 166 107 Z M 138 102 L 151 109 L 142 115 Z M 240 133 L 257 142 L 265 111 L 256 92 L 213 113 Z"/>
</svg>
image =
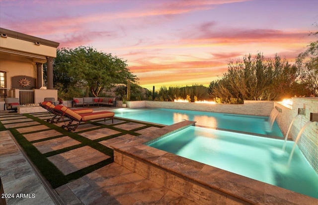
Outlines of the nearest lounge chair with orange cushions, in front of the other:
<svg viewBox="0 0 318 205">
<path fill-rule="evenodd" d="M 64 112 L 64 116 L 70 119 L 70 122 L 67 125 L 62 125 L 62 128 L 68 128 L 68 131 L 75 131 L 81 122 L 87 122 L 93 119 L 102 119 L 106 121 L 107 118 L 112 119 L 112 123 L 114 123 L 114 112 L 102 111 L 102 112 L 91 112 L 91 113 L 76 113 L 74 110 L 69 109 L 63 105 L 57 105 L 54 108 L 57 111 Z M 77 122 L 73 124 L 73 122 Z"/>
</svg>

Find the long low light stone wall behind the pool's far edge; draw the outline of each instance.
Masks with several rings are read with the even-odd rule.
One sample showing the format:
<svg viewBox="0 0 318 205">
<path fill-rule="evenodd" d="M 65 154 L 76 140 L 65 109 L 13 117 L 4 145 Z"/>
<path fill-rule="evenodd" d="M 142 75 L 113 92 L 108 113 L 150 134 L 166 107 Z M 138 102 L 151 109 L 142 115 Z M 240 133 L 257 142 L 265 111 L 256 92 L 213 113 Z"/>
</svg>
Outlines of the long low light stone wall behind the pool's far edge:
<svg viewBox="0 0 318 205">
<path fill-rule="evenodd" d="M 232 114 L 247 114 L 268 116 L 274 108 L 273 101 L 244 101 L 244 104 L 209 104 L 209 103 L 174 103 L 159 101 L 130 101 L 127 106 L 137 107 L 157 107 L 168 109 L 186 109 L 194 111 L 221 112 Z"/>
</svg>

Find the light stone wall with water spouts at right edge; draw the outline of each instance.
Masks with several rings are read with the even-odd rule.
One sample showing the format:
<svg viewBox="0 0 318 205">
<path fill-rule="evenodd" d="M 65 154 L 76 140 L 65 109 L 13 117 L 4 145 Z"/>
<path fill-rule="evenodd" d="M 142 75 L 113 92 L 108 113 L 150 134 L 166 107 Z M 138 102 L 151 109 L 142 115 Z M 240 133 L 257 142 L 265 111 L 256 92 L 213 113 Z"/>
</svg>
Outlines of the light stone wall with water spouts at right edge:
<svg viewBox="0 0 318 205">
<path fill-rule="evenodd" d="M 281 128 L 284 135 L 286 135 L 288 128 L 298 113 L 298 108 L 305 108 L 305 115 L 298 115 L 293 122 L 289 132 L 289 138 L 296 140 L 301 128 L 310 120 L 310 113 L 318 112 L 318 98 L 292 98 L 292 108 L 285 107 L 280 103 L 275 103 L 282 109 L 282 112 L 276 117 L 276 122 Z M 311 123 L 304 130 L 301 138 L 298 141 L 298 147 L 318 173 L 318 122 Z"/>
</svg>

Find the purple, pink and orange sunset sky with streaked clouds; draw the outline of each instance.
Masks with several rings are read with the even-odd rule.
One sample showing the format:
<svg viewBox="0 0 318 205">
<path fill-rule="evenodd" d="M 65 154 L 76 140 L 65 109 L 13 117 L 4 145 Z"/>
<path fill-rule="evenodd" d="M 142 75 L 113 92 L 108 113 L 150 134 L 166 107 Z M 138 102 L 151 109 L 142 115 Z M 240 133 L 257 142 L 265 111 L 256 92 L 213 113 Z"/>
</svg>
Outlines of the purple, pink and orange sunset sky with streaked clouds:
<svg viewBox="0 0 318 205">
<path fill-rule="evenodd" d="M 230 60 L 293 63 L 318 30 L 318 0 L 0 0 L 0 27 L 127 60 L 139 85 L 209 85 Z"/>
</svg>

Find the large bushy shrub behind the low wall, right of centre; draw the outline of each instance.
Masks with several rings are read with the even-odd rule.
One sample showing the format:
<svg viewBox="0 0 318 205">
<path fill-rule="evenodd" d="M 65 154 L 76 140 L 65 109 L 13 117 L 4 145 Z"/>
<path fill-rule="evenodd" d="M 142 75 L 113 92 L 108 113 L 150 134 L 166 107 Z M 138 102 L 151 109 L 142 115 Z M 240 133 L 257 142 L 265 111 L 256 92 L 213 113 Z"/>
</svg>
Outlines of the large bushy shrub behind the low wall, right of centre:
<svg viewBox="0 0 318 205">
<path fill-rule="evenodd" d="M 265 58 L 261 53 L 255 57 L 244 56 L 243 60 L 228 64 L 223 79 L 213 81 L 209 95 L 221 103 L 242 103 L 243 100 L 278 100 L 290 95 L 295 81 L 296 67 L 275 55 Z"/>
</svg>

